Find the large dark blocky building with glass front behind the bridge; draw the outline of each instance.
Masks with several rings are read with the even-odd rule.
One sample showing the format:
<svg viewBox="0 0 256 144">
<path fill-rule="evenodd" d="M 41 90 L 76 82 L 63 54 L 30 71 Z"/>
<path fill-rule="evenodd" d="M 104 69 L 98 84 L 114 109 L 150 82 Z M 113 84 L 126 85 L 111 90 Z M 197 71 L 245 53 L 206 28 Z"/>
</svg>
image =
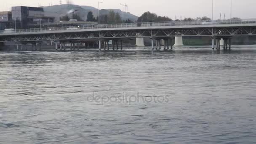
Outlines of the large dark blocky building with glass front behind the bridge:
<svg viewBox="0 0 256 144">
<path fill-rule="evenodd" d="M 43 8 L 15 6 L 11 10 L 16 29 L 34 28 L 43 23 L 54 22 L 54 17 L 45 16 Z"/>
</svg>

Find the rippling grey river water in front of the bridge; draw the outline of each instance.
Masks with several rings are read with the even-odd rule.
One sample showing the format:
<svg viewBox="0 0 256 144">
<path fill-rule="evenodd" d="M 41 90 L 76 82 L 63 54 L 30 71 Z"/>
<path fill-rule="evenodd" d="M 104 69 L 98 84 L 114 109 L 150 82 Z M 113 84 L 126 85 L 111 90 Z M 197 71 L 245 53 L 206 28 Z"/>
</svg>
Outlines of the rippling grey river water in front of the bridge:
<svg viewBox="0 0 256 144">
<path fill-rule="evenodd" d="M 256 143 L 256 46 L 0 52 L 0 143 Z"/>
</svg>

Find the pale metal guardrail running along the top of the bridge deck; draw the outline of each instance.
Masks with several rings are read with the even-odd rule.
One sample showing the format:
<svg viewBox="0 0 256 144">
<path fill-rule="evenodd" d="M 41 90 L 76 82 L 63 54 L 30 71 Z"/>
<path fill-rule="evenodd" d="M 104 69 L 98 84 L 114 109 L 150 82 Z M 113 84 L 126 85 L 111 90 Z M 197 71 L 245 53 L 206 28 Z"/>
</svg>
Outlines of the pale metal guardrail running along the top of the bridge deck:
<svg viewBox="0 0 256 144">
<path fill-rule="evenodd" d="M 15 31 L 0 31 L 0 33 L 21 33 L 21 32 L 48 32 L 48 31 L 69 31 L 80 29 L 107 29 L 107 28 L 129 28 L 129 27 L 164 27 L 164 26 L 187 26 L 187 25 L 212 25 L 212 24 L 251 24 L 256 23 L 256 19 L 222 20 L 222 21 L 165 21 L 165 22 L 145 22 L 129 24 L 100 24 L 73 27 L 48 27 L 34 29 L 16 29 Z"/>
</svg>

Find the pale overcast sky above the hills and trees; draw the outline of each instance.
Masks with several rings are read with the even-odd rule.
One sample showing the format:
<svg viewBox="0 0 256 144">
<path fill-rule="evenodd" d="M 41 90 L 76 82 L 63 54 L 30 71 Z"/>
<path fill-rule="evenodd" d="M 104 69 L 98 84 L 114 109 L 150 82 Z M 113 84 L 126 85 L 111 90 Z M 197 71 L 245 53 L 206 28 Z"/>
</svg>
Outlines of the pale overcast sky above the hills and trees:
<svg viewBox="0 0 256 144">
<path fill-rule="evenodd" d="M 212 0 L 101 0 L 101 9 L 122 9 L 120 3 L 128 4 L 128 11 L 140 16 L 145 11 L 154 12 L 160 16 L 168 16 L 171 19 L 177 17 L 208 16 L 212 17 Z M 88 5 L 98 7 L 98 0 L 72 0 L 76 5 Z M 11 6 L 46 6 L 59 5 L 59 0 L 0 0 L 0 11 L 10 10 Z M 66 0 L 62 0 L 66 3 Z M 232 16 L 240 18 L 256 18 L 256 0 L 232 0 Z M 230 17 L 230 0 L 214 0 L 214 19 L 219 19 L 219 13 L 224 18 Z"/>
</svg>

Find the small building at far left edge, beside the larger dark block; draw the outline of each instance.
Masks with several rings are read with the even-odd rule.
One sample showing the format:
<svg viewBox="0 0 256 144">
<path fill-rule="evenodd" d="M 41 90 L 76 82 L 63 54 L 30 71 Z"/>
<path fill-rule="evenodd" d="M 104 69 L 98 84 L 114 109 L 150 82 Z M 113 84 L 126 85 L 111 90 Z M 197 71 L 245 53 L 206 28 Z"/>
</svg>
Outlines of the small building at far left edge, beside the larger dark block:
<svg viewBox="0 0 256 144">
<path fill-rule="evenodd" d="M 12 27 L 11 11 L 0 11 L 0 30 Z"/>
</svg>

